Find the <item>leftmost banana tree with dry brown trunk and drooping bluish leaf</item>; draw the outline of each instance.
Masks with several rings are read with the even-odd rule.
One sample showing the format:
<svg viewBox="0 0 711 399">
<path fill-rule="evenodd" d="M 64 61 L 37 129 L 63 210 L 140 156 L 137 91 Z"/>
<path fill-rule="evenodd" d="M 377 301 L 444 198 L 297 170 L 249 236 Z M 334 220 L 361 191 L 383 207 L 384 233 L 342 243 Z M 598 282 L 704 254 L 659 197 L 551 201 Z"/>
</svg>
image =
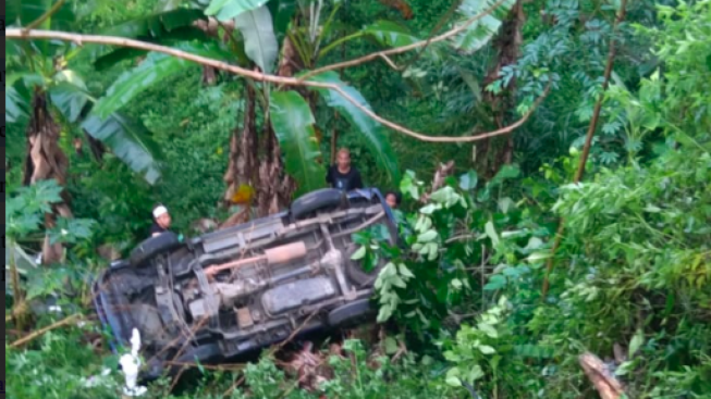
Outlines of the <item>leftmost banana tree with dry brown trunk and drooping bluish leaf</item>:
<svg viewBox="0 0 711 399">
<path fill-rule="evenodd" d="M 66 29 L 74 22 L 72 8 L 63 1 L 50 8 L 47 1 L 23 0 L 8 4 L 8 25 Z M 66 67 L 72 46 L 53 42 L 8 42 L 5 80 L 5 124 L 9 132 L 25 132 L 23 184 L 54 179 L 66 184 L 69 158 L 60 147 L 60 137 L 68 136 L 62 126 L 77 126 L 89 145 L 100 141 L 115 157 L 149 183 L 160 176 L 158 147 L 140 124 L 120 113 L 98 116 L 93 112 L 96 102 L 82 77 Z M 45 215 L 45 226 L 54 227 L 57 216 L 72 217 L 70 198 L 62 191 L 62 201 Z M 50 245 L 45 237 L 42 262 L 57 262 L 62 257 L 61 244 Z"/>
</svg>

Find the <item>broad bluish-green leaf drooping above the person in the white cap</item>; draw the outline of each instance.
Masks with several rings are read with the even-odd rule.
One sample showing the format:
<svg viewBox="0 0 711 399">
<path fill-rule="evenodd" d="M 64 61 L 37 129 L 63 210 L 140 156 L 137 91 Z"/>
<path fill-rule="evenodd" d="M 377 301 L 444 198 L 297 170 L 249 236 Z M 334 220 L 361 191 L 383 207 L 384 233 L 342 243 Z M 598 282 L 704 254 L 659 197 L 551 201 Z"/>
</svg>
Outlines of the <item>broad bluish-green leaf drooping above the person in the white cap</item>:
<svg viewBox="0 0 711 399">
<path fill-rule="evenodd" d="M 111 148 L 111 152 L 133 171 L 142 173 L 149 184 L 160 178 L 160 149 L 149 137 L 148 129 L 139 122 L 130 121 L 120 113 L 113 113 L 106 119 L 89 114 L 82 127 L 91 137 Z"/>
</svg>

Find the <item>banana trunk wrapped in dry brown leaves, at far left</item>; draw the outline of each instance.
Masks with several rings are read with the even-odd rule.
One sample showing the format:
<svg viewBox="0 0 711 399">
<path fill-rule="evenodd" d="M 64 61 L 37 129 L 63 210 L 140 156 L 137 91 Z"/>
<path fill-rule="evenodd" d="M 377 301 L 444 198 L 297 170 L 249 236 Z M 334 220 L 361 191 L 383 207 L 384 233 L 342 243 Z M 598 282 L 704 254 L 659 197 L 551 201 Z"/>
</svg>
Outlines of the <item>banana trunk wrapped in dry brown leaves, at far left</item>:
<svg viewBox="0 0 711 399">
<path fill-rule="evenodd" d="M 32 103 L 33 114 L 27 126 L 27 157 L 23 184 L 30 185 L 53 178 L 63 187 L 66 185 L 69 159 L 59 147 L 60 127 L 49 113 L 47 93 L 36 88 Z M 52 204 L 52 212 L 45 214 L 47 229 L 56 226 L 58 214 L 72 217 L 66 190 L 62 190 L 61 197 L 61 202 Z M 62 260 L 62 245 L 50 245 L 49 235 L 46 235 L 42 245 L 42 263 L 59 262 Z"/>
</svg>

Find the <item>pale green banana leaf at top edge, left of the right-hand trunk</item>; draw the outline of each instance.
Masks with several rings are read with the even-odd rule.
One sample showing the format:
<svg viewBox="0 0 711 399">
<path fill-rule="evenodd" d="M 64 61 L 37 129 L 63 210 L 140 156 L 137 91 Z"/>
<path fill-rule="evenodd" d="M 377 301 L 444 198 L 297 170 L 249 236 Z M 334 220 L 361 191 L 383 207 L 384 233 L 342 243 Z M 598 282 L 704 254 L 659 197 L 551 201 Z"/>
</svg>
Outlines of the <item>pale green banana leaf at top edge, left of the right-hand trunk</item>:
<svg viewBox="0 0 711 399">
<path fill-rule="evenodd" d="M 459 21 L 455 25 L 461 26 L 466 21 L 493 7 L 497 2 L 498 0 L 464 0 L 457 9 Z M 452 46 L 466 54 L 479 50 L 495 35 L 501 27 L 502 21 L 507 17 L 515 3 L 516 0 L 506 0 L 492 13 L 468 25 L 464 32 L 452 38 Z"/>
</svg>

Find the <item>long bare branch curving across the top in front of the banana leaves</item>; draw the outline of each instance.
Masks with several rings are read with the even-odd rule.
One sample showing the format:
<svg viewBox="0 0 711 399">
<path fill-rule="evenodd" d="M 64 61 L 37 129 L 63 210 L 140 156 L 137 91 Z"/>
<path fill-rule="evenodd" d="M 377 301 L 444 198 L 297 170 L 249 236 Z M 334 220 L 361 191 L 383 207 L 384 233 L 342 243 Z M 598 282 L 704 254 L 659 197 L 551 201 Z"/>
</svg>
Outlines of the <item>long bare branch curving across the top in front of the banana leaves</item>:
<svg viewBox="0 0 711 399">
<path fill-rule="evenodd" d="M 505 1 L 505 0 L 500 0 L 500 2 Z M 483 15 L 483 14 L 482 14 Z M 473 21 L 471 21 L 473 22 Z M 451 30 L 451 32 L 457 32 L 457 29 Z M 450 35 L 450 34 L 445 34 Z M 487 139 L 490 137 L 494 136 L 501 136 L 508 134 L 516 129 L 517 127 L 522 126 L 526 121 L 528 121 L 528 117 L 534 113 L 534 111 L 538 108 L 538 105 L 543 101 L 545 96 L 548 95 L 551 86 L 551 82 L 549 79 L 548 86 L 545 87 L 545 90 L 543 93 L 536 100 L 534 105 L 530 108 L 530 110 L 516 123 L 513 125 L 510 125 L 507 127 L 480 134 L 477 136 L 463 136 L 463 137 L 456 137 L 456 136 L 429 136 L 425 135 L 421 133 L 417 133 L 415 130 L 408 129 L 407 127 L 401 126 L 392 121 L 385 120 L 384 117 L 378 115 L 377 113 L 372 112 L 369 108 L 364 107 L 358 100 L 353 98 L 348 92 L 346 92 L 341 86 L 336 84 L 330 84 L 330 83 L 321 83 L 321 82 L 311 82 L 311 80 L 304 80 L 304 77 L 302 78 L 293 78 L 293 77 L 283 77 L 283 76 L 275 76 L 275 75 L 267 75 L 262 74 L 257 71 L 250 71 L 241 66 L 236 65 L 231 65 L 228 64 L 226 62 L 218 61 L 214 59 L 210 59 L 207 57 L 201 57 L 201 55 L 196 55 L 192 54 L 189 52 L 183 51 L 183 50 L 177 50 L 173 49 L 170 47 L 166 46 L 160 46 L 160 45 L 155 45 L 150 42 L 145 42 L 140 40 L 134 40 L 134 39 L 126 39 L 122 37 L 114 37 L 114 36 L 99 36 L 99 35 L 79 35 L 79 34 L 70 34 L 65 32 L 57 32 L 57 30 L 22 30 L 22 29 L 5 29 L 5 39 L 54 39 L 54 40 L 63 40 L 63 41 L 72 41 L 77 45 L 82 45 L 83 42 L 91 42 L 91 43 L 99 43 L 99 45 L 110 45 L 110 46 L 121 46 L 121 47 L 130 47 L 134 49 L 139 49 L 139 50 L 148 50 L 148 51 L 155 51 L 155 52 L 160 52 L 164 54 L 169 54 L 175 58 L 180 58 L 183 60 L 192 61 L 201 65 L 208 65 L 212 66 L 217 70 L 222 70 L 230 72 L 235 75 L 240 75 L 243 77 L 247 77 L 254 80 L 258 82 L 269 82 L 269 83 L 274 83 L 279 85 L 285 85 L 285 86 L 306 86 L 306 87 L 314 87 L 314 88 L 320 88 L 320 89 L 328 89 L 328 90 L 333 90 L 341 95 L 344 99 L 346 99 L 348 102 L 354 104 L 360 112 L 365 113 L 372 120 L 379 122 L 380 124 L 390 127 L 391 129 L 402 133 L 406 136 L 416 138 L 421 141 L 427 141 L 427 142 L 474 142 L 482 139 Z M 434 39 L 433 39 L 434 40 Z M 425 41 L 422 41 L 425 43 Z M 416 48 L 416 47 L 412 47 Z M 404 48 L 399 48 L 399 49 L 404 49 Z M 397 50 L 397 49 L 394 49 Z M 402 51 L 401 51 L 402 52 Z M 368 55 L 370 57 L 370 55 Z M 376 53 L 372 57 L 381 57 L 381 53 Z M 365 62 L 365 61 L 363 61 Z"/>
</svg>

